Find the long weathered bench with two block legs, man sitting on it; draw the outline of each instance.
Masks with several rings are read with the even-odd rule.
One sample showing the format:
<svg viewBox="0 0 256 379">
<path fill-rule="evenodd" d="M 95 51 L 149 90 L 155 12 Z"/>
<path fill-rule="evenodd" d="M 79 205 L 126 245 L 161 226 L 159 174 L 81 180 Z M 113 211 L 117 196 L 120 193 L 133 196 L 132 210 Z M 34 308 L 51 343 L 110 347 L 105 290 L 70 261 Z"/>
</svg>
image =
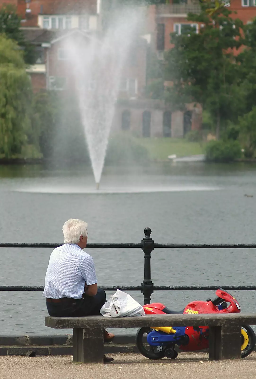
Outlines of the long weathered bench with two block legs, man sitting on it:
<svg viewBox="0 0 256 379">
<path fill-rule="evenodd" d="M 209 358 L 241 358 L 241 325 L 245 324 L 256 325 L 256 314 L 45 317 L 45 326 L 73 329 L 73 361 L 82 363 L 103 363 L 103 328 L 161 326 L 209 326 Z"/>
</svg>

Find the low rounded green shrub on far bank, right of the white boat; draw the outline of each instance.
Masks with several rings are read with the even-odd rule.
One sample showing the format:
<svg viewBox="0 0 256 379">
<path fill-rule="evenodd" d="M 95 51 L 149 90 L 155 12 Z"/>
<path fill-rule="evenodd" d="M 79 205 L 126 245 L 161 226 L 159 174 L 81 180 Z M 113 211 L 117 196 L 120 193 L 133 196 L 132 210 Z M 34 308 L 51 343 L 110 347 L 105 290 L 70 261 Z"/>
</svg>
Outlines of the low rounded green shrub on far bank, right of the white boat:
<svg viewBox="0 0 256 379">
<path fill-rule="evenodd" d="M 238 141 L 210 141 L 206 145 L 206 160 L 215 162 L 230 162 L 240 158 L 241 146 Z"/>
</svg>

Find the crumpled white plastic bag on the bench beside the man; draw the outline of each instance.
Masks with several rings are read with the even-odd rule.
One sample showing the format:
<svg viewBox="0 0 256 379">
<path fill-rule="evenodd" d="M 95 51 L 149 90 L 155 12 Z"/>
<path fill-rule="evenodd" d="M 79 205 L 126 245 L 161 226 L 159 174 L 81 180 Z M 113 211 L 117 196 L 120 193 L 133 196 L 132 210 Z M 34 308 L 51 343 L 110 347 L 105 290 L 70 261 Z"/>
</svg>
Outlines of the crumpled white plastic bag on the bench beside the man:
<svg viewBox="0 0 256 379">
<path fill-rule="evenodd" d="M 105 317 L 131 317 L 145 315 L 143 307 L 128 293 L 117 289 L 100 310 Z"/>
</svg>

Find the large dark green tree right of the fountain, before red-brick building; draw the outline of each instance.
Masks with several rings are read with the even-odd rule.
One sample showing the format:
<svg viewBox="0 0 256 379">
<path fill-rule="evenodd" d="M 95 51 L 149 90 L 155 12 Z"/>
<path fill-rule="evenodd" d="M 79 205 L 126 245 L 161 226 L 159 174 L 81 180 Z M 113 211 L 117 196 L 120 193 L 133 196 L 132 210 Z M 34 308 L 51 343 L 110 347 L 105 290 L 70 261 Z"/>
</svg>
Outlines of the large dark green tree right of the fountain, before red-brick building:
<svg viewBox="0 0 256 379">
<path fill-rule="evenodd" d="M 190 26 L 181 35 L 172 33 L 174 47 L 165 56 L 165 80 L 173 83 L 167 89 L 168 102 L 178 109 L 185 103 L 201 103 L 211 114 L 218 138 L 221 124 L 237 119 L 244 109 L 234 55 L 244 42 L 244 25 L 230 15 L 222 4 L 201 3 L 200 14 L 188 15 L 200 25 L 198 33 Z"/>
</svg>

